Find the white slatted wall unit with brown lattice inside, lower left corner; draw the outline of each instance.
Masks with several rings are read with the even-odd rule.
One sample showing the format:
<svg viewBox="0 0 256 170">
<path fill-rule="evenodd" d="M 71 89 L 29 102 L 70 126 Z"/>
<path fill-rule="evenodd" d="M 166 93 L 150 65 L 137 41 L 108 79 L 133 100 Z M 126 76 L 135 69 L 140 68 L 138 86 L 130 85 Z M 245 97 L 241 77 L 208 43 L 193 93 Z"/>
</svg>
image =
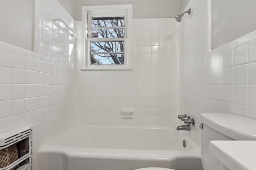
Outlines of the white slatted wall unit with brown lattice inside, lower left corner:
<svg viewBox="0 0 256 170">
<path fill-rule="evenodd" d="M 31 170 L 31 132 L 24 125 L 0 133 L 0 170 Z"/>
</svg>

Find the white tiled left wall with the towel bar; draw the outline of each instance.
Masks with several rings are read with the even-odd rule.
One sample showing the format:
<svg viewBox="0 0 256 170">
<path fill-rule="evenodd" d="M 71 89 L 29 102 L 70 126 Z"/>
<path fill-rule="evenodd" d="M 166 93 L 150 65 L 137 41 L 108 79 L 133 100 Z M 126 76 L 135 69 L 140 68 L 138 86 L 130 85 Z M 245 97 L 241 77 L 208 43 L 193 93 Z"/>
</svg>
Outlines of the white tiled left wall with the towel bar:
<svg viewBox="0 0 256 170">
<path fill-rule="evenodd" d="M 57 0 L 36 3 L 37 54 L 0 42 L 0 132 L 32 125 L 34 170 L 40 145 L 73 124 L 75 63 L 74 39 L 52 25 L 73 18 Z"/>
</svg>

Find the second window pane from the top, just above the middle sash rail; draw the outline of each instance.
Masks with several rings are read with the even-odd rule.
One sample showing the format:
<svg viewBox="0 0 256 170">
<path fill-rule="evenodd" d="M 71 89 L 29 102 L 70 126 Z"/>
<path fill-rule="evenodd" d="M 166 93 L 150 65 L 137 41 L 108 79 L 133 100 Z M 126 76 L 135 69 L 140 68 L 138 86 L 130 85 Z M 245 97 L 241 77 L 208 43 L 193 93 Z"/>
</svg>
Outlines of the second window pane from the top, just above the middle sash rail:
<svg viewBox="0 0 256 170">
<path fill-rule="evenodd" d="M 92 38 L 124 38 L 124 28 L 93 29 Z"/>
</svg>

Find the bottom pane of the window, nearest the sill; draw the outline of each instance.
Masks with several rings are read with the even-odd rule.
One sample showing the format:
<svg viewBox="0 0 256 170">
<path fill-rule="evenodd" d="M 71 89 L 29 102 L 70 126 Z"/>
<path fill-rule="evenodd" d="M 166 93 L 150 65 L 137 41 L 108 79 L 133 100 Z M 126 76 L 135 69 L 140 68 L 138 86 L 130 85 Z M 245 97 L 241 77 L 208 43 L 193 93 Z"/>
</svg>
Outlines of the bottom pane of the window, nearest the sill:
<svg viewBox="0 0 256 170">
<path fill-rule="evenodd" d="M 91 65 L 124 64 L 124 54 L 91 54 Z"/>
</svg>

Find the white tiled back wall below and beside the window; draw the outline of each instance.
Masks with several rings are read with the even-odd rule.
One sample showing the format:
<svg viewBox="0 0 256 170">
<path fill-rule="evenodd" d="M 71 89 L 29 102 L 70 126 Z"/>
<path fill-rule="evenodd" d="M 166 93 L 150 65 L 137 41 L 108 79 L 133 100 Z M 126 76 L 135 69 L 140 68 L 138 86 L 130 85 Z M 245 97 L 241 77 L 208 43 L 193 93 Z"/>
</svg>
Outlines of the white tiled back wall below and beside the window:
<svg viewBox="0 0 256 170">
<path fill-rule="evenodd" d="M 81 71 L 77 56 L 78 124 L 177 124 L 178 23 L 134 19 L 132 33 L 132 71 Z M 134 108 L 134 119 L 121 119 L 122 107 Z"/>
</svg>

